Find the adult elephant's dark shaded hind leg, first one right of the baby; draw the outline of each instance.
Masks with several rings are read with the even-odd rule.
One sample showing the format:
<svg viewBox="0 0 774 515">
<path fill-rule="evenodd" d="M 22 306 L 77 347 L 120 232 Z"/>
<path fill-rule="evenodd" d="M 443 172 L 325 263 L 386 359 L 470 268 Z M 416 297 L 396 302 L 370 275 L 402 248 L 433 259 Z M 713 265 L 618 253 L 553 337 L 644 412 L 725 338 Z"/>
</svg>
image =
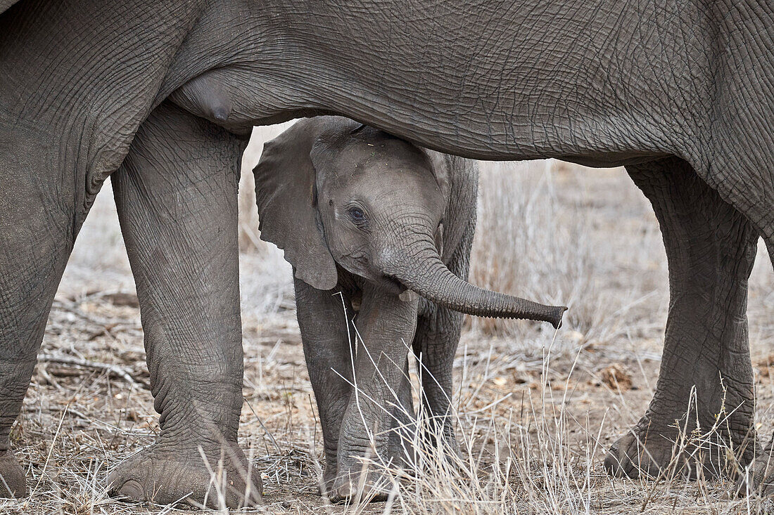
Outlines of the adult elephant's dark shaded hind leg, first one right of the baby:
<svg viewBox="0 0 774 515">
<path fill-rule="evenodd" d="M 619 476 L 656 475 L 673 459 L 677 426 L 689 437 L 697 428 L 712 435 L 675 453 L 676 471 L 695 475 L 698 465 L 717 472 L 729 447 L 749 462 L 755 407 L 746 309 L 758 234 L 686 162 L 669 159 L 627 171 L 659 220 L 670 311 L 656 394 L 639 423 L 612 446 L 605 468 Z"/>
</svg>

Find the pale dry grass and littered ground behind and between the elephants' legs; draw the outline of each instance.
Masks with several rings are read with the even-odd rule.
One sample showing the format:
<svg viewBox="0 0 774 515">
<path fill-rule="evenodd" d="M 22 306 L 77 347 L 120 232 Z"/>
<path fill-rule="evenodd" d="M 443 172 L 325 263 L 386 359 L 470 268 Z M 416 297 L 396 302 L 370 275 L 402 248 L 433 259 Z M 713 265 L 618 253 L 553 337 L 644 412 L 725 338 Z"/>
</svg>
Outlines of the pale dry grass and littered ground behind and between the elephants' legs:
<svg viewBox="0 0 774 515">
<path fill-rule="evenodd" d="M 262 130 L 269 138 L 275 128 Z M 259 135 L 261 136 L 261 135 Z M 256 138 L 257 139 L 257 138 Z M 258 141 L 245 157 L 252 168 Z M 243 186 L 251 179 L 244 174 Z M 255 235 L 243 187 L 241 288 L 245 406 L 241 445 L 255 456 L 268 513 L 759 513 L 728 480 L 611 479 L 608 446 L 646 408 L 666 320 L 666 264 L 652 212 L 619 170 L 560 162 L 486 164 L 474 282 L 570 306 L 565 325 L 471 319 L 455 370 L 461 457 L 418 455 L 392 470 L 387 503 L 329 506 L 317 493 L 322 437 L 303 363 L 289 266 Z M 172 513 L 116 502 L 108 470 L 158 431 L 139 311 L 114 207 L 98 198 L 57 295 L 43 355 L 12 433 L 33 495 L 0 513 Z M 770 433 L 774 275 L 751 280 L 750 339 L 762 435 Z M 75 365 L 73 363 L 81 363 Z M 104 367 L 105 364 L 110 367 Z M 413 384 L 418 384 L 413 377 Z M 420 414 L 420 418 L 422 415 Z M 686 435 L 686 438 L 695 438 Z M 685 442 L 683 442 L 683 445 Z"/>
</svg>

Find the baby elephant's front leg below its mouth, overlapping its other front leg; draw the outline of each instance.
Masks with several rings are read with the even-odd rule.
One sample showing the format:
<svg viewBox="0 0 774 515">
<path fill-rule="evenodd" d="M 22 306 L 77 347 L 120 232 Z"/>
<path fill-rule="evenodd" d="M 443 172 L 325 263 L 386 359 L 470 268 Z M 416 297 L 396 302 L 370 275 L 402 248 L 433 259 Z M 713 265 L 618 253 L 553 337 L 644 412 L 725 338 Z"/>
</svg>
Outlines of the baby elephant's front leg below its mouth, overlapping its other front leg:
<svg viewBox="0 0 774 515">
<path fill-rule="evenodd" d="M 416 296 L 404 302 L 379 288 L 364 288 L 355 319 L 354 389 L 338 438 L 334 500 L 385 498 L 387 485 L 378 469 L 410 461 L 414 414 L 406 355 L 416 312 Z M 378 466 L 364 465 L 364 459 Z"/>
</svg>

